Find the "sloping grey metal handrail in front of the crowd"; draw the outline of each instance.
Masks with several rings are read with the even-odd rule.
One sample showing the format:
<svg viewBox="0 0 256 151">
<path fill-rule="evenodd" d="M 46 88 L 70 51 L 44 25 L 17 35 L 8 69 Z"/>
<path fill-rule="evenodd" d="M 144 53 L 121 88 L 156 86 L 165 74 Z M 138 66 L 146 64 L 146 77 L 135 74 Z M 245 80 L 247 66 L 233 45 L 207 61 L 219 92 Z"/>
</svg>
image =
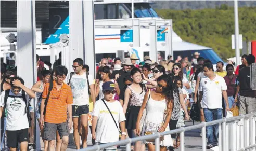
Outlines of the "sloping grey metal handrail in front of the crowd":
<svg viewBox="0 0 256 151">
<path fill-rule="evenodd" d="M 223 125 L 223 123 L 224 123 L 224 125 L 226 125 L 229 122 L 237 121 L 237 120 L 241 120 L 241 119 L 245 119 L 245 118 L 247 119 L 247 118 L 250 118 L 250 117 L 253 117 L 253 116 L 256 116 L 256 113 L 250 113 L 250 114 L 246 114 L 246 115 L 239 115 L 239 116 L 230 117 L 230 118 L 222 118 L 222 119 L 214 120 L 214 121 L 210 121 L 210 122 L 202 122 L 198 125 L 181 127 L 181 128 L 171 130 L 171 131 L 155 133 L 155 134 L 151 134 L 151 135 L 138 136 L 138 137 L 135 137 L 135 138 L 126 138 L 125 140 L 122 140 L 122 141 L 107 143 L 107 144 L 94 145 L 92 147 L 88 147 L 88 148 L 84 148 L 84 149 L 80 149 L 80 150 L 81 151 L 93 151 L 93 150 L 99 150 L 99 149 L 103 149 L 103 148 L 107 148 L 107 147 L 111 147 L 111 146 L 116 146 L 116 145 L 126 145 L 126 150 L 127 150 L 128 148 L 131 147 L 131 143 L 133 143 L 133 142 L 144 141 L 144 140 L 148 140 L 148 139 L 155 139 L 156 140 L 155 143 L 159 143 L 159 137 L 160 136 L 176 134 L 176 133 L 183 133 L 183 135 L 184 135 L 185 131 L 189 131 L 189 130 L 193 130 L 193 129 L 199 129 L 199 128 L 202 128 L 202 133 L 204 133 L 204 135 L 205 135 L 206 134 L 206 132 L 205 132 L 206 126 L 211 126 L 211 125 L 216 125 L 216 124 Z M 224 128 L 224 129 L 226 129 L 226 128 Z M 226 130 L 224 130 L 224 131 L 226 131 Z M 203 141 L 203 143 L 205 143 L 205 142 Z M 183 147 L 184 147 L 184 144 L 183 144 Z M 206 149 L 205 147 L 206 146 L 203 146 L 202 149 L 205 150 Z M 239 151 L 240 150 L 241 151 L 246 150 L 246 149 L 249 149 L 249 148 L 252 148 L 252 147 L 256 147 L 256 144 L 252 144 L 252 145 L 247 146 L 247 147 L 241 147 L 241 148 L 239 148 Z"/>
</svg>

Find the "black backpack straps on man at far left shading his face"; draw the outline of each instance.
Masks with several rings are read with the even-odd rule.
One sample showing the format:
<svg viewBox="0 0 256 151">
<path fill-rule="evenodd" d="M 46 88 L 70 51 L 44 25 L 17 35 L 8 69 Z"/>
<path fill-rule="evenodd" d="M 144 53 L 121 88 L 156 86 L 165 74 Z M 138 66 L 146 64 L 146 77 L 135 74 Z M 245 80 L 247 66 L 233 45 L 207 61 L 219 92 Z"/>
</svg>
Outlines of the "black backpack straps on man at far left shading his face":
<svg viewBox="0 0 256 151">
<path fill-rule="evenodd" d="M 30 103 L 29 103 L 29 101 L 27 102 L 25 91 L 21 90 L 21 97 L 10 96 L 9 93 L 10 93 L 10 89 L 5 91 L 5 98 L 4 98 L 5 106 L 4 106 L 4 110 L 6 108 L 6 103 L 7 103 L 7 99 L 8 98 L 22 98 L 23 101 L 25 102 L 25 105 L 26 105 L 26 108 L 27 108 L 27 109 L 25 109 L 25 114 L 27 114 L 27 118 L 28 118 L 28 121 L 29 121 L 29 127 L 31 127 L 31 120 L 32 120 L 32 118 L 30 116 L 30 109 L 29 109 Z"/>
</svg>

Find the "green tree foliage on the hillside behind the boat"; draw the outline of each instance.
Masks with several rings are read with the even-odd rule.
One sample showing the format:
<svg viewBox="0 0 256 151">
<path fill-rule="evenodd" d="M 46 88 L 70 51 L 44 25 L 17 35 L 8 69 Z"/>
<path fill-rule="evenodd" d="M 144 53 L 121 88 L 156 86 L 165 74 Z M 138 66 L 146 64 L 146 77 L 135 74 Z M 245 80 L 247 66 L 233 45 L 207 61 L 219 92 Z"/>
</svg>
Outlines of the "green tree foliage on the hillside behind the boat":
<svg viewBox="0 0 256 151">
<path fill-rule="evenodd" d="M 183 40 L 211 47 L 224 60 L 235 56 L 231 49 L 231 35 L 235 33 L 233 7 L 156 11 L 164 19 L 173 20 L 173 30 Z M 238 11 L 239 34 L 243 40 L 256 40 L 256 7 L 241 7 Z"/>
</svg>

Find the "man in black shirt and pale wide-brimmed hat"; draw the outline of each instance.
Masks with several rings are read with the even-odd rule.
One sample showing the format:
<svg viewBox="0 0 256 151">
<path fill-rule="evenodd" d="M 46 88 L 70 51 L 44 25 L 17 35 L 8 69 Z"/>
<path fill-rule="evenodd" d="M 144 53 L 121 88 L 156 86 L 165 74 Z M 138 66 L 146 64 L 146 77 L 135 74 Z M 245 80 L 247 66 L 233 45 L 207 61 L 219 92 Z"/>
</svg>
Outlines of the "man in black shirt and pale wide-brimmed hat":
<svg viewBox="0 0 256 151">
<path fill-rule="evenodd" d="M 120 90 L 123 90 L 123 87 L 124 87 L 124 84 L 123 84 L 124 77 L 131 76 L 130 70 L 132 65 L 133 64 L 130 58 L 124 58 L 122 62 L 123 68 L 121 70 L 113 71 L 113 73 L 110 76 L 110 79 L 117 80 Z"/>
</svg>

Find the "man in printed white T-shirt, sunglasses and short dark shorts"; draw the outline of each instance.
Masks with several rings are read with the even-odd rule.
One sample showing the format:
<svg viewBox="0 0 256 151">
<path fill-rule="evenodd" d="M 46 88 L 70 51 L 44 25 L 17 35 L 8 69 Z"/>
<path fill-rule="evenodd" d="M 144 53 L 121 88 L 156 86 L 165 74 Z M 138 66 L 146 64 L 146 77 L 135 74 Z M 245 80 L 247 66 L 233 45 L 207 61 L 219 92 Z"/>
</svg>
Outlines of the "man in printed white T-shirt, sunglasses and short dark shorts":
<svg viewBox="0 0 256 151">
<path fill-rule="evenodd" d="M 74 141 L 76 149 L 80 149 L 80 135 L 82 135 L 83 148 L 87 147 L 89 97 L 95 103 L 93 76 L 83 71 L 83 60 L 76 58 L 73 61 L 74 74 L 70 80 L 73 93 L 72 119 L 74 126 Z M 71 74 L 70 74 L 71 75 Z M 79 134 L 79 119 L 82 125 L 82 134 Z"/>
</svg>

